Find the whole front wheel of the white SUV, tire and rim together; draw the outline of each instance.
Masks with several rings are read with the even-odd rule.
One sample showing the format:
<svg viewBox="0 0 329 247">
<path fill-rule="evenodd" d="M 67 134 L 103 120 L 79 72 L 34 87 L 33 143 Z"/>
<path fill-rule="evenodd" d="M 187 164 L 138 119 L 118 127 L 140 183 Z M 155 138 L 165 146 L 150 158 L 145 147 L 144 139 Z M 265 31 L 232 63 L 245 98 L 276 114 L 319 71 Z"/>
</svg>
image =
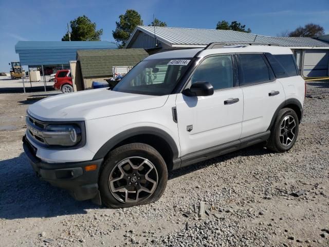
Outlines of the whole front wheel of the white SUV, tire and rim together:
<svg viewBox="0 0 329 247">
<path fill-rule="evenodd" d="M 104 161 L 99 179 L 101 200 L 112 208 L 155 202 L 167 180 L 167 166 L 157 150 L 142 143 L 123 145 Z"/>
</svg>

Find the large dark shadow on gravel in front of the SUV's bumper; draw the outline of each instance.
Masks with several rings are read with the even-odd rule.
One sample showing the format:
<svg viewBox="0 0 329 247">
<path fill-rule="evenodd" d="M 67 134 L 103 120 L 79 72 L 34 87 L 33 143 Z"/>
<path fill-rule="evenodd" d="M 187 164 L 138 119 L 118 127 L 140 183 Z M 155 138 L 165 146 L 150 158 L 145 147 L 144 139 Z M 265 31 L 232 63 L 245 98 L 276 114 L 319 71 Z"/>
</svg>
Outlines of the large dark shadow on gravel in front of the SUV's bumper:
<svg viewBox="0 0 329 247">
<path fill-rule="evenodd" d="M 87 214 L 98 208 L 91 201 L 79 202 L 67 191 L 41 181 L 24 153 L 0 161 L 0 219 L 23 219 Z"/>
</svg>

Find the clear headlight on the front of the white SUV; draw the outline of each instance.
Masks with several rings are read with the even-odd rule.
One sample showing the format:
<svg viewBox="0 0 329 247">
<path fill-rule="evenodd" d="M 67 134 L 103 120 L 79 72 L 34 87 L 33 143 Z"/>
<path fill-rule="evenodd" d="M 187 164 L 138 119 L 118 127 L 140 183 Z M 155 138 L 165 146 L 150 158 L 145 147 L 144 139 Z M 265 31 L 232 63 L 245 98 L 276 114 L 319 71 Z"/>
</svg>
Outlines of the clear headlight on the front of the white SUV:
<svg viewBox="0 0 329 247">
<path fill-rule="evenodd" d="M 74 146 L 81 140 L 81 129 L 77 125 L 48 125 L 43 137 L 48 145 Z"/>
</svg>

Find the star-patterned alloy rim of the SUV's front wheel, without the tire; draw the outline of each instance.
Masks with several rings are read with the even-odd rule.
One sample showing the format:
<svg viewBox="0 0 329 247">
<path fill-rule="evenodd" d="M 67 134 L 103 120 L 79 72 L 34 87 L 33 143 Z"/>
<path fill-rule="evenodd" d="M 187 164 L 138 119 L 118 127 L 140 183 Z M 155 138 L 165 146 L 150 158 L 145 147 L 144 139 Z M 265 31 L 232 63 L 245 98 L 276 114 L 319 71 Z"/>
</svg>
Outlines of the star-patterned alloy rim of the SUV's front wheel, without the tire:
<svg viewBox="0 0 329 247">
<path fill-rule="evenodd" d="M 137 203 L 149 198 L 157 183 L 158 173 L 153 163 L 137 156 L 120 161 L 108 178 L 109 190 L 123 203 Z"/>
</svg>

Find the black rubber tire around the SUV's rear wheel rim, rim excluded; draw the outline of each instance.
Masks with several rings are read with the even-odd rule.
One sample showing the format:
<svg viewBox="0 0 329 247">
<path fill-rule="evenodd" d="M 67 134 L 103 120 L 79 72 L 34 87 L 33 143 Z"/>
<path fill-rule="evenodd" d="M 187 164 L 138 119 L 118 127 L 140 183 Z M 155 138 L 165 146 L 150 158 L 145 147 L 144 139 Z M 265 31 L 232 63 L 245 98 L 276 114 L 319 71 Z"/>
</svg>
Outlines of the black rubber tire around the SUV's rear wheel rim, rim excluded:
<svg viewBox="0 0 329 247">
<path fill-rule="evenodd" d="M 285 140 L 287 140 L 286 142 L 282 139 L 282 138 L 284 138 L 283 136 L 280 137 L 280 126 L 283 124 L 283 120 L 286 117 L 292 117 L 296 123 L 296 130 L 295 130 L 295 135 L 293 138 L 291 138 L 291 136 L 294 133 L 289 131 L 290 128 L 287 128 L 288 129 L 287 134 L 289 135 L 289 133 L 290 133 L 290 136 L 288 136 L 288 137 L 289 137 L 289 139 L 292 139 L 291 141 L 289 141 L 289 143 L 288 143 L 287 139 L 285 139 Z M 292 118 L 290 118 L 290 119 L 292 120 Z M 283 133 L 285 132 L 284 129 L 281 131 L 283 131 Z M 299 120 L 298 120 L 298 116 L 297 116 L 296 112 L 290 108 L 283 108 L 279 111 L 278 116 L 274 122 L 274 125 L 271 128 L 271 134 L 267 140 L 266 147 L 275 152 L 280 152 L 280 153 L 286 152 L 294 146 L 297 136 L 298 136 L 298 131 L 299 131 Z M 285 143 L 285 145 L 282 143 Z"/>
</svg>

